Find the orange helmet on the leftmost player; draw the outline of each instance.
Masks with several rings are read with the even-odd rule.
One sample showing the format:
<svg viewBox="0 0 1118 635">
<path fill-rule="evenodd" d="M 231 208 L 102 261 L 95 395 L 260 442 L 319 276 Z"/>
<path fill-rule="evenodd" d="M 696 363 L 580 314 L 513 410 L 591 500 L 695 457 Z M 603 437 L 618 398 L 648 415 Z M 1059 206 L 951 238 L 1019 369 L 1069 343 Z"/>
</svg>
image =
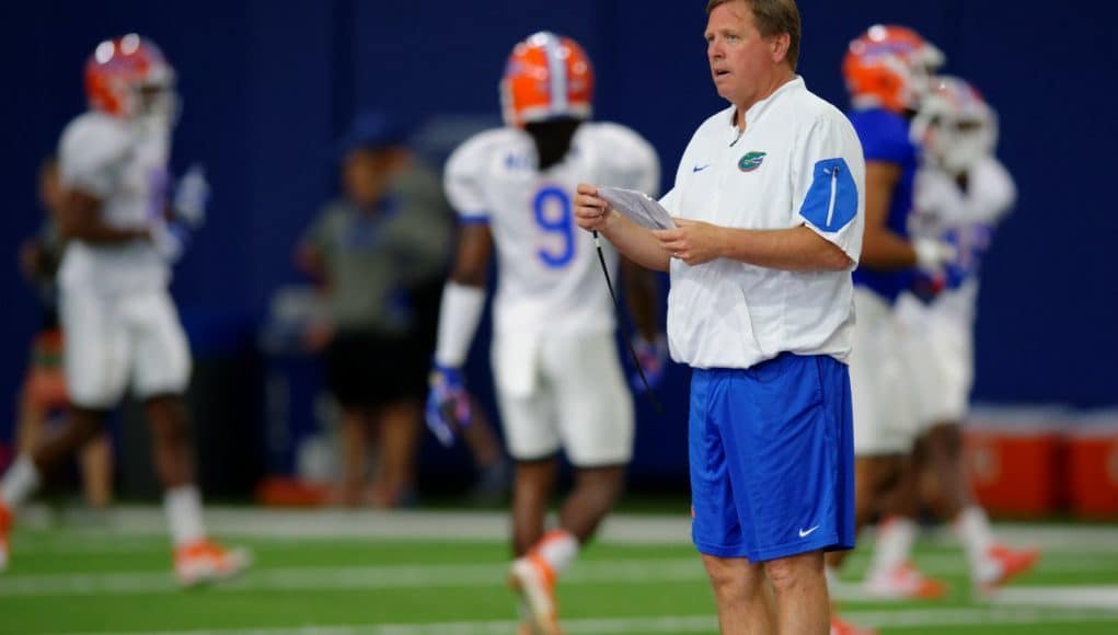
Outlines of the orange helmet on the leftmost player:
<svg viewBox="0 0 1118 635">
<path fill-rule="evenodd" d="M 120 117 L 174 110 L 174 69 L 151 40 L 136 34 L 97 45 L 85 63 L 89 107 Z"/>
</svg>

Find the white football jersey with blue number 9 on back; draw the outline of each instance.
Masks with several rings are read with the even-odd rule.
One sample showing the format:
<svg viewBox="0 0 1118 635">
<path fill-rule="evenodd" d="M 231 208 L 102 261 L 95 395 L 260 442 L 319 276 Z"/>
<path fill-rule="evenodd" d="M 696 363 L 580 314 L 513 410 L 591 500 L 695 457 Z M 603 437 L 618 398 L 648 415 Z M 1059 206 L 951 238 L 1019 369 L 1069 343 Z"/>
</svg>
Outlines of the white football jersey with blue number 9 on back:
<svg viewBox="0 0 1118 635">
<path fill-rule="evenodd" d="M 585 123 L 562 162 L 540 171 L 522 130 L 477 134 L 447 161 L 446 195 L 463 222 L 487 222 L 498 254 L 496 333 L 612 331 L 614 312 L 594 238 L 575 225 L 579 182 L 656 193 L 660 162 L 632 130 Z M 610 276 L 617 253 L 605 240 Z"/>
</svg>

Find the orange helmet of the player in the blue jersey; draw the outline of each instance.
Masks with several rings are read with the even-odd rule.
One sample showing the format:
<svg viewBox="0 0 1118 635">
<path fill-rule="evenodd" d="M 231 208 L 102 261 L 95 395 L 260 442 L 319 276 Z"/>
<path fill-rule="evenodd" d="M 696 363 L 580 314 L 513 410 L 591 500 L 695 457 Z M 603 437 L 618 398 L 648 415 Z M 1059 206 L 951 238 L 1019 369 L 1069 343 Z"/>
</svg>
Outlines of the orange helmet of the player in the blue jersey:
<svg viewBox="0 0 1118 635">
<path fill-rule="evenodd" d="M 874 25 L 850 42 L 842 74 L 855 107 L 915 111 L 944 54 L 919 34 L 896 25 Z"/>
</svg>

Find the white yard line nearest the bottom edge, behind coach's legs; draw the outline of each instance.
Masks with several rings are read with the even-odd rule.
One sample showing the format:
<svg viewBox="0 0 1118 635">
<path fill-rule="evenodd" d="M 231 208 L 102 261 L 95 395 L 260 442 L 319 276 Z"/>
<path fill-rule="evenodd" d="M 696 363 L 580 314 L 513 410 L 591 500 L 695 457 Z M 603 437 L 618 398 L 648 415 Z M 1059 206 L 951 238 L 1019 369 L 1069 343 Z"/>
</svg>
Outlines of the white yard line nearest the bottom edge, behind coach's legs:
<svg viewBox="0 0 1118 635">
<path fill-rule="evenodd" d="M 945 608 L 845 612 L 852 623 L 875 628 L 927 628 L 928 626 L 996 626 L 1103 622 L 1118 615 L 1097 610 L 1040 610 L 1027 608 Z M 304 626 L 299 628 L 236 628 L 210 631 L 148 632 L 159 635 L 506 635 L 513 620 L 443 622 L 435 624 L 382 624 L 378 626 Z M 713 615 L 662 617 L 613 617 L 562 620 L 565 633 L 607 635 L 617 633 L 714 633 Z"/>
</svg>

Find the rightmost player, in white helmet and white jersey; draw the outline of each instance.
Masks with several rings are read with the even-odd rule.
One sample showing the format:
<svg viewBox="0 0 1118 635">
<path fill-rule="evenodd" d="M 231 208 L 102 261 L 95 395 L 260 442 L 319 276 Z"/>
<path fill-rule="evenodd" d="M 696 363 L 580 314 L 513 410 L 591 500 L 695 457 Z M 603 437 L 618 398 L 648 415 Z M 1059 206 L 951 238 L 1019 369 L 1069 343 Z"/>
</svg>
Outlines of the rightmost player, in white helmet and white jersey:
<svg viewBox="0 0 1118 635">
<path fill-rule="evenodd" d="M 978 268 L 1016 189 L 994 157 L 996 114 L 963 79 L 934 80 L 912 122 L 912 139 L 922 145 L 925 160 L 916 178 L 910 229 L 916 236 L 941 237 L 958 253 L 941 275 L 921 278 L 918 292 L 902 294 L 897 303 L 920 435 L 912 456 L 917 478 L 908 481 L 920 485 L 922 499 L 939 518 L 953 521 L 967 552 L 972 581 L 987 591 L 1026 571 L 1040 556 L 994 540 L 989 521 L 972 495 L 961 452 L 960 421 L 974 379 Z M 925 293 L 929 287 L 941 291 L 930 295 Z M 920 499 L 916 487 L 907 496 Z M 915 527 L 911 519 L 887 523 L 879 540 L 897 542 L 893 534 L 910 527 Z M 899 543 L 911 541 L 902 538 Z"/>
</svg>

